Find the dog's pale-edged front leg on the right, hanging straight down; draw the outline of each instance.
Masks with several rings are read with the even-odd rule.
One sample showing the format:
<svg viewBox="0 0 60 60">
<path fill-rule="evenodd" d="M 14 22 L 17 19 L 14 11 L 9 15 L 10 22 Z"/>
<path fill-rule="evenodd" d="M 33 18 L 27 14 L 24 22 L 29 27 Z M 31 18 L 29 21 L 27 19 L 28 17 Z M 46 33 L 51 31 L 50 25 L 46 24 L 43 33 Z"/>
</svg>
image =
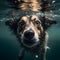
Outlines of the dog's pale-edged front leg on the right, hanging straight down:
<svg viewBox="0 0 60 60">
<path fill-rule="evenodd" d="M 46 50 L 47 50 L 47 41 L 48 41 L 48 33 L 45 32 L 45 40 L 43 41 L 42 44 L 42 49 L 41 49 L 41 60 L 46 60 Z"/>
</svg>

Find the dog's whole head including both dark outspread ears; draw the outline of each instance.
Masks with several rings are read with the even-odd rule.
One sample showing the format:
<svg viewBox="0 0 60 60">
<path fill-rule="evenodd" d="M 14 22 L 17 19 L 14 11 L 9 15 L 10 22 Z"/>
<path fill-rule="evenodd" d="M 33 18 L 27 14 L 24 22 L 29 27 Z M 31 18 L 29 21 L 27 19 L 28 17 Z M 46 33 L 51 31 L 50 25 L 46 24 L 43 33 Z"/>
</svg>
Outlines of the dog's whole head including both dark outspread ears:
<svg viewBox="0 0 60 60">
<path fill-rule="evenodd" d="M 18 20 L 11 19 L 6 22 L 21 38 L 21 43 L 26 47 L 41 44 L 45 38 L 45 30 L 54 23 L 56 21 L 37 15 L 26 15 Z"/>
</svg>

